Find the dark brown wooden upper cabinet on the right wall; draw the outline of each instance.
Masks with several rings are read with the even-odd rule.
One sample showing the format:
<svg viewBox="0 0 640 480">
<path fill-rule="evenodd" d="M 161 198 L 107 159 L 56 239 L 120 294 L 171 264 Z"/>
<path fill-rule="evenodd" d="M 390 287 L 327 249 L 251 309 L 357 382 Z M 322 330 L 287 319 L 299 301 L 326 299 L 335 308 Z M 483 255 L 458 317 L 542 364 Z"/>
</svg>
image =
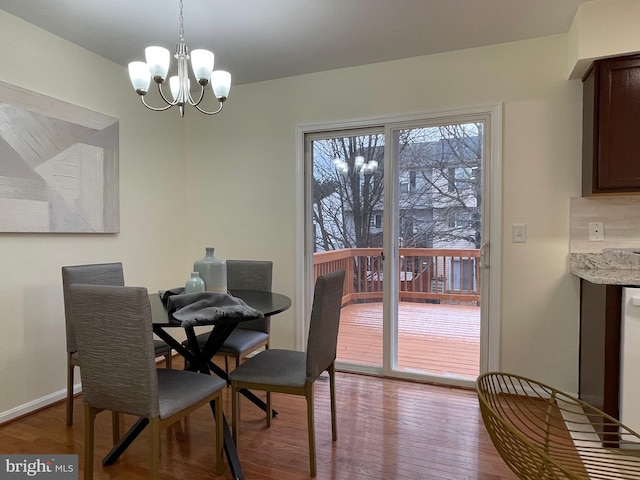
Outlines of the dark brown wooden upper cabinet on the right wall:
<svg viewBox="0 0 640 480">
<path fill-rule="evenodd" d="M 582 195 L 640 192 L 640 55 L 595 61 L 583 95 Z"/>
</svg>

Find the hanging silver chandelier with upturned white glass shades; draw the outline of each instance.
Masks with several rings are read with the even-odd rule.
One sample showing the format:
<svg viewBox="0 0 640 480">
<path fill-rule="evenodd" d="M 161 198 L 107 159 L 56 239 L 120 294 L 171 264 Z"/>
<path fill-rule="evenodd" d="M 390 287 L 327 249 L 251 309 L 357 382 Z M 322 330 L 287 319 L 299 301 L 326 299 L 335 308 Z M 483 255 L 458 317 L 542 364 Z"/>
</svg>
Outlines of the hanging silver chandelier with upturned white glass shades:
<svg viewBox="0 0 640 480">
<path fill-rule="evenodd" d="M 189 55 L 189 49 L 184 43 L 184 18 L 182 15 L 183 3 L 180 0 L 180 43 L 176 46 L 176 54 L 174 57 L 178 60 L 178 75 L 169 78 L 169 88 L 171 90 L 171 97 L 173 100 L 169 100 L 162 90 L 162 85 L 167 78 L 169 72 L 170 52 L 163 47 L 147 47 L 145 49 L 146 62 L 131 62 L 129 63 L 129 78 L 133 89 L 138 95 L 145 107 L 155 112 L 161 112 L 171 107 L 178 106 L 180 110 L 180 116 L 184 117 L 184 106 L 189 104 L 195 107 L 199 112 L 205 115 L 215 115 L 222 111 L 224 101 L 229 96 L 229 90 L 231 89 L 231 74 L 224 70 L 213 70 L 213 52 L 209 50 L 197 49 L 192 50 Z M 188 60 L 191 59 L 191 68 L 193 70 L 193 76 L 200 85 L 200 93 L 197 100 L 194 100 L 191 96 L 189 88 L 191 87 L 191 80 L 189 79 L 189 67 Z M 151 79 L 158 85 L 158 92 L 160 97 L 164 100 L 165 105 L 162 107 L 153 107 L 149 105 L 144 96 L 149 91 L 149 85 Z M 211 83 L 213 94 L 218 100 L 220 106 L 213 112 L 208 112 L 200 107 L 200 102 L 204 99 L 205 88 Z"/>
</svg>

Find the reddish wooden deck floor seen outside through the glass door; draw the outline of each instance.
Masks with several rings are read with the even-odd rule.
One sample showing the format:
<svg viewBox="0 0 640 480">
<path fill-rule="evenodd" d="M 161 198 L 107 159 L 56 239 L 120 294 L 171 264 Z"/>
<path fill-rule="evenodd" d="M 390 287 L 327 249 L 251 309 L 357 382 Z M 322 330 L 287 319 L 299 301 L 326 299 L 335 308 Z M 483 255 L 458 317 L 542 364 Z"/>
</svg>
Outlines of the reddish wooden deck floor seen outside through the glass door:
<svg viewBox="0 0 640 480">
<path fill-rule="evenodd" d="M 475 380 L 480 363 L 480 307 L 400 302 L 398 369 Z M 338 361 L 382 366 L 382 303 L 342 309 Z"/>
</svg>

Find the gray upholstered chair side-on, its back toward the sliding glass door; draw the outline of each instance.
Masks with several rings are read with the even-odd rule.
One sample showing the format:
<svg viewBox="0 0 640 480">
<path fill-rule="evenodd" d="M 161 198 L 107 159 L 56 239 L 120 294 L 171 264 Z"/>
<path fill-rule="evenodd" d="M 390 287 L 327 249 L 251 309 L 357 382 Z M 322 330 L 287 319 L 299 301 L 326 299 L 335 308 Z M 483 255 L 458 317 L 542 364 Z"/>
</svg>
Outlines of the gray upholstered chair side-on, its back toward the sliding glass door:
<svg viewBox="0 0 640 480">
<path fill-rule="evenodd" d="M 313 420 L 313 384 L 327 370 L 331 389 L 331 432 L 337 439 L 335 359 L 344 270 L 329 273 L 316 280 L 307 351 L 269 349 L 248 359 L 229 374 L 232 395 L 232 431 L 237 440 L 239 397 L 241 389 L 267 392 L 267 426 L 271 425 L 270 392 L 303 395 L 307 400 L 309 431 L 309 463 L 311 476 L 316 476 L 315 427 Z"/>
</svg>

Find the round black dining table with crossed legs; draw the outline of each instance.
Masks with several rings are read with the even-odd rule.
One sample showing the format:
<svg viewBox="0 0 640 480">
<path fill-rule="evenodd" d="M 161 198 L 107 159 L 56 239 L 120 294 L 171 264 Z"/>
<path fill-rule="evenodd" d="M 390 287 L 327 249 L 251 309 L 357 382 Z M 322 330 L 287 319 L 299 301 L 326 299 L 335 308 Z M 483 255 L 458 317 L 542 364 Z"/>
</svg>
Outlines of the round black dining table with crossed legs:
<svg viewBox="0 0 640 480">
<path fill-rule="evenodd" d="M 291 299 L 286 295 L 275 292 L 263 292 L 257 290 L 230 290 L 229 294 L 235 298 L 244 301 L 249 307 L 262 313 L 265 317 L 271 317 L 278 313 L 284 312 L 291 307 Z M 212 372 L 229 382 L 227 372 L 216 365 L 212 359 L 223 345 L 231 332 L 243 321 L 255 320 L 259 317 L 240 317 L 229 318 L 222 317 L 216 319 L 202 320 L 198 319 L 190 325 L 183 325 L 182 322 L 173 318 L 165 304 L 161 299 L 161 293 L 149 295 L 149 304 L 151 306 L 151 319 L 153 333 L 164 340 L 177 353 L 182 355 L 185 360 L 185 369 L 201 372 L 210 375 Z M 195 328 L 201 326 L 211 326 L 209 337 L 203 348 L 200 348 L 196 338 Z M 175 338 L 173 334 L 184 331 L 187 336 L 187 346 Z M 241 392 L 254 404 L 266 411 L 264 402 L 255 396 L 252 392 L 244 390 Z M 224 432 L 224 451 L 229 464 L 229 468 L 233 478 L 242 479 L 244 473 L 242 465 L 238 457 L 235 442 L 231 436 L 228 422 L 223 416 L 223 432 Z M 103 458 L 103 465 L 110 465 L 115 462 L 118 457 L 127 449 L 127 447 L 135 440 L 135 438 L 144 430 L 149 423 L 146 418 L 140 418 L 125 433 L 120 441 L 111 449 L 111 451 Z"/>
</svg>

